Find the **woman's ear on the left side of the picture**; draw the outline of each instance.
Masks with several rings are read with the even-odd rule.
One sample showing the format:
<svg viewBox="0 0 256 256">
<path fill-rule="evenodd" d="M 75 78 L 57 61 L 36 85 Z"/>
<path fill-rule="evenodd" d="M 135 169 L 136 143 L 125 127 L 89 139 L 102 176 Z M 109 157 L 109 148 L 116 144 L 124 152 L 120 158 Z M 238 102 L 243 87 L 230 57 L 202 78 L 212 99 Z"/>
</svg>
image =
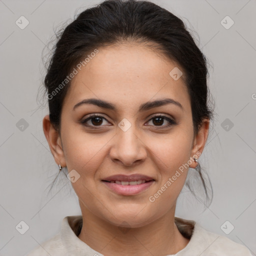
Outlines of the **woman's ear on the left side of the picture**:
<svg viewBox="0 0 256 256">
<path fill-rule="evenodd" d="M 56 164 L 60 164 L 62 167 L 65 167 L 66 162 L 62 149 L 60 134 L 51 124 L 48 114 L 43 117 L 42 128 Z"/>
</svg>

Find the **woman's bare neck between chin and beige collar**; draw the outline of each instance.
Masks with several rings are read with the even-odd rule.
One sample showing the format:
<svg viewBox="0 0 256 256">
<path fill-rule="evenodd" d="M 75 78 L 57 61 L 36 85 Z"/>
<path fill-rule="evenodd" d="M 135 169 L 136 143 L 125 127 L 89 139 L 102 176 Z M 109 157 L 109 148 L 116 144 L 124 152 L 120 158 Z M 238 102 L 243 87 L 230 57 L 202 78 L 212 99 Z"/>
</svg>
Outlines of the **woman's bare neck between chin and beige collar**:
<svg viewBox="0 0 256 256">
<path fill-rule="evenodd" d="M 175 254 L 187 245 L 189 239 L 179 232 L 174 212 L 175 208 L 141 227 L 121 228 L 83 208 L 83 224 L 78 238 L 104 255 L 119 256 L 124 249 L 127 256 Z"/>
</svg>

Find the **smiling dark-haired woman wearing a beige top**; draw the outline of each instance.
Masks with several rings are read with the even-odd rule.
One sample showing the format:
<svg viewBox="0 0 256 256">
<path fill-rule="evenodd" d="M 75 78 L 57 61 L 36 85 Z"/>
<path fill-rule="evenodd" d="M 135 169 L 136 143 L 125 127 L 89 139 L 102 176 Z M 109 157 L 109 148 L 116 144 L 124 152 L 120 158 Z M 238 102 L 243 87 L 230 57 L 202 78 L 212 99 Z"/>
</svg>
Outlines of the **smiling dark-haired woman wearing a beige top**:
<svg viewBox="0 0 256 256">
<path fill-rule="evenodd" d="M 213 112 L 202 52 L 148 1 L 106 0 L 61 33 L 44 79 L 43 131 L 82 215 L 28 255 L 251 255 L 175 217 Z"/>
</svg>

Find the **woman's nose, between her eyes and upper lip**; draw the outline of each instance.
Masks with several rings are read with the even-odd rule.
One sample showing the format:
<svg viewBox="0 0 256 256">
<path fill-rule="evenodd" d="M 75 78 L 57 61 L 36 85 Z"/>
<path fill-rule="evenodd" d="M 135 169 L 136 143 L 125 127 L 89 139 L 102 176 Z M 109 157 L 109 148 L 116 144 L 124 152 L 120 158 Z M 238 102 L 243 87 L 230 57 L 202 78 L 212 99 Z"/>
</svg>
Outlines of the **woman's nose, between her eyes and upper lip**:
<svg viewBox="0 0 256 256">
<path fill-rule="evenodd" d="M 134 164 L 145 160 L 147 156 L 146 145 L 133 128 L 134 126 L 132 125 L 126 131 L 117 127 L 116 136 L 109 152 L 112 161 L 125 166 L 134 166 Z"/>
</svg>

